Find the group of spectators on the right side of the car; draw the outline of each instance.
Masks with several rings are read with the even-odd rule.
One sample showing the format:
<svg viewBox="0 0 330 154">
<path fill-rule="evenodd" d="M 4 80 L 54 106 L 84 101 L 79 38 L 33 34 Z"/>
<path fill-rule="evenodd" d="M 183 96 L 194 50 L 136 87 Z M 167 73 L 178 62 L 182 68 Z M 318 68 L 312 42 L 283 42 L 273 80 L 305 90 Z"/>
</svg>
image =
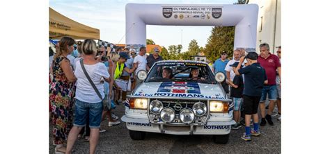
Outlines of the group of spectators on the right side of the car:
<svg viewBox="0 0 330 154">
<path fill-rule="evenodd" d="M 260 135 L 259 126 L 267 123 L 274 126 L 272 117 L 281 121 L 281 46 L 277 47 L 277 55 L 270 53 L 267 43 L 260 44 L 259 48 L 260 55 L 256 52 L 246 54 L 244 49 L 237 49 L 233 53 L 233 60 L 227 60 L 227 54 L 223 52 L 212 65 L 214 74 L 220 71 L 226 76 L 222 85 L 234 103 L 236 123 L 232 128 L 239 129 L 244 125 L 245 132 L 241 138 L 245 141 L 251 141 L 251 135 Z M 267 107 L 266 100 L 269 101 Z M 273 114 L 276 105 L 277 113 Z M 243 120 L 239 121 L 241 111 Z M 250 128 L 251 121 L 253 129 Z"/>
</svg>

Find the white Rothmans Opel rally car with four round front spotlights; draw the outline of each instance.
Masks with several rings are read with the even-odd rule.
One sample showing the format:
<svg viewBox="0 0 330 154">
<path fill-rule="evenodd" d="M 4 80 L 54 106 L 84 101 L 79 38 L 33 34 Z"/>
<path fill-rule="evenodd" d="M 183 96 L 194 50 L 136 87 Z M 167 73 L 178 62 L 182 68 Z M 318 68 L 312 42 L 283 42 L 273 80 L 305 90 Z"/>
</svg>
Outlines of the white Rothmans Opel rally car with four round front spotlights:
<svg viewBox="0 0 330 154">
<path fill-rule="evenodd" d="M 170 78 L 163 78 L 171 69 Z M 198 69 L 192 77 L 191 70 Z M 233 102 L 205 62 L 165 60 L 156 62 L 149 73 L 139 71 L 138 85 L 125 101 L 129 136 L 144 139 L 146 132 L 171 135 L 213 135 L 215 143 L 226 144 L 233 120 Z"/>
</svg>

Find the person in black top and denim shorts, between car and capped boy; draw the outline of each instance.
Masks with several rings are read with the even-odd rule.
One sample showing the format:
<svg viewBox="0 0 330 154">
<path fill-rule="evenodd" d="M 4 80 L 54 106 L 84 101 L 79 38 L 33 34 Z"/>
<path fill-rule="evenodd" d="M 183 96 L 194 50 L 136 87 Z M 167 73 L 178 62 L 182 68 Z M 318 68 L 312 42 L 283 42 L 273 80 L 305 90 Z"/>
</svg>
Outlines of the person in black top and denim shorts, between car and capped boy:
<svg viewBox="0 0 330 154">
<path fill-rule="evenodd" d="M 233 70 L 236 69 L 239 62 L 235 62 L 233 65 L 230 65 L 230 67 L 233 67 Z M 242 66 L 240 68 L 243 68 Z M 229 85 L 232 86 L 232 91 L 230 92 L 230 97 L 233 98 L 234 102 L 234 120 L 236 121 L 236 124 L 232 126 L 233 129 L 237 130 L 241 128 L 242 126 L 239 124 L 239 117 L 241 117 L 241 106 L 242 106 L 242 97 L 243 97 L 243 77 L 241 75 L 235 75 L 233 82 L 229 80 Z"/>
</svg>

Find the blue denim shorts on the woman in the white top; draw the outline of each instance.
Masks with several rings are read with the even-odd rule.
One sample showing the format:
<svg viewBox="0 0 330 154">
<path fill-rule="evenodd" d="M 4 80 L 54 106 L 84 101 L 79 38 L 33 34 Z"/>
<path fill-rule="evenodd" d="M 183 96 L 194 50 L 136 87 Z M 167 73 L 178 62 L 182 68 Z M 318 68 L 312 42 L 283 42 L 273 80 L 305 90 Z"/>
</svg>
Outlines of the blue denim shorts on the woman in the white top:
<svg viewBox="0 0 330 154">
<path fill-rule="evenodd" d="M 100 103 L 87 103 L 76 99 L 75 103 L 75 117 L 73 126 L 84 127 L 86 126 L 87 114 L 89 116 L 89 127 L 100 128 L 102 119 L 102 102 Z"/>
</svg>

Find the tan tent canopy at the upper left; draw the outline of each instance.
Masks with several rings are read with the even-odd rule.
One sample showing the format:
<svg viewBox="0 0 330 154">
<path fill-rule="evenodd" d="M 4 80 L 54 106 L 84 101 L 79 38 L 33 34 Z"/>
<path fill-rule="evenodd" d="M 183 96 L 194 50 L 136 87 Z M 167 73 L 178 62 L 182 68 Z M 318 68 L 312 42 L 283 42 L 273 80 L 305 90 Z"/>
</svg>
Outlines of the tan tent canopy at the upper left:
<svg viewBox="0 0 330 154">
<path fill-rule="evenodd" d="M 49 38 L 61 39 L 63 36 L 72 37 L 74 40 L 100 39 L 100 30 L 91 28 L 61 15 L 49 8 Z"/>
</svg>

